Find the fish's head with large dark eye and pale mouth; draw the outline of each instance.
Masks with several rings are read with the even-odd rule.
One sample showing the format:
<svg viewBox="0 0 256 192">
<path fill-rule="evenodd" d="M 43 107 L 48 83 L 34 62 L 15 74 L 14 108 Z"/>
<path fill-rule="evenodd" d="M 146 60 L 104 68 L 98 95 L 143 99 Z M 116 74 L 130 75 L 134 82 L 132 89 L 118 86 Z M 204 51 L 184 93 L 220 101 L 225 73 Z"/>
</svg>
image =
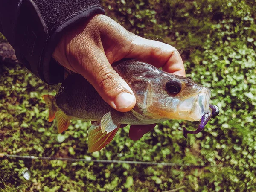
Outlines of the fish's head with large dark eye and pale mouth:
<svg viewBox="0 0 256 192">
<path fill-rule="evenodd" d="M 192 79 L 163 72 L 148 84 L 146 113 L 154 119 L 199 121 L 209 110 L 211 91 Z"/>
</svg>

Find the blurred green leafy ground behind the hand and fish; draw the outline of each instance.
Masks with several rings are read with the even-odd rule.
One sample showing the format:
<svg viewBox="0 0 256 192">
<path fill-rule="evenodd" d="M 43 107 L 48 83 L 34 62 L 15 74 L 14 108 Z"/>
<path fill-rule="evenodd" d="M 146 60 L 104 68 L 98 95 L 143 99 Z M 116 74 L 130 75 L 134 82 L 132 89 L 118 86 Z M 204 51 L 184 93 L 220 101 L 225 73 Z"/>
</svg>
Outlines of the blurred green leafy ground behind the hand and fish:
<svg viewBox="0 0 256 192">
<path fill-rule="evenodd" d="M 0 49 L 7 50 L 0 59 L 0 152 L 223 167 L 9 159 L 0 160 L 0 191 L 255 191 L 256 1 L 102 0 L 102 5 L 129 31 L 176 47 L 187 76 L 211 89 L 220 115 L 188 139 L 181 128 L 195 130 L 198 123 L 163 122 L 136 142 L 128 127 L 119 129 L 111 144 L 88 153 L 90 122 L 73 120 L 58 134 L 41 95 L 54 95 L 59 85 L 48 86 L 17 63 L 0 35 Z"/>
</svg>

